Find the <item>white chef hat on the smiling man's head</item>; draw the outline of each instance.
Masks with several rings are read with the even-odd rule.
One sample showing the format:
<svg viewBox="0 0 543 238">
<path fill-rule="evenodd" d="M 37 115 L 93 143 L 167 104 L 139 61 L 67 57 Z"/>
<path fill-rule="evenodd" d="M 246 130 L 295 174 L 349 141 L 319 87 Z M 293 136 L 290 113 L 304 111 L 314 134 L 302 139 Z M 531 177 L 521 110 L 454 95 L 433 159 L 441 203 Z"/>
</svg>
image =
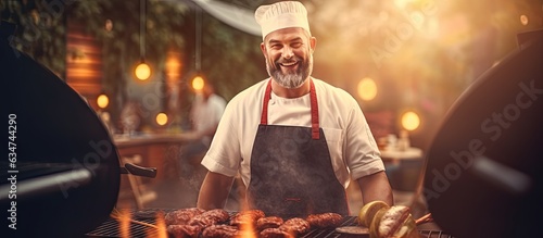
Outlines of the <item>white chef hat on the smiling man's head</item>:
<svg viewBox="0 0 543 238">
<path fill-rule="evenodd" d="M 269 5 L 261 5 L 254 17 L 262 28 L 262 39 L 269 33 L 282 28 L 301 27 L 311 35 L 307 22 L 307 10 L 296 1 L 281 1 Z"/>
</svg>

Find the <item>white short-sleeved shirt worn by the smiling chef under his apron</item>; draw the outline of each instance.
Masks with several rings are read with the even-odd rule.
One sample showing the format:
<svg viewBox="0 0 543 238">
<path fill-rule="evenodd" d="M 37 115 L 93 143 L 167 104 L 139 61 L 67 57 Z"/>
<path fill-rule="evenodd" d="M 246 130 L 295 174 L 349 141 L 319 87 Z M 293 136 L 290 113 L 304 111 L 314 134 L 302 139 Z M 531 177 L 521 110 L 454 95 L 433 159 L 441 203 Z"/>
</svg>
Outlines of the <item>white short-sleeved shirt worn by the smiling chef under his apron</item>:
<svg viewBox="0 0 543 238">
<path fill-rule="evenodd" d="M 202 160 L 211 172 L 236 176 L 245 185 L 251 180 L 251 152 L 268 80 L 262 80 L 237 95 L 226 107 L 211 148 Z M 356 100 L 346 91 L 313 78 L 318 115 L 338 180 L 346 188 L 358 179 L 384 170 L 375 139 Z M 269 125 L 311 127 L 310 93 L 293 99 L 272 92 Z M 270 147 L 277 145 L 269 145 Z"/>
</svg>

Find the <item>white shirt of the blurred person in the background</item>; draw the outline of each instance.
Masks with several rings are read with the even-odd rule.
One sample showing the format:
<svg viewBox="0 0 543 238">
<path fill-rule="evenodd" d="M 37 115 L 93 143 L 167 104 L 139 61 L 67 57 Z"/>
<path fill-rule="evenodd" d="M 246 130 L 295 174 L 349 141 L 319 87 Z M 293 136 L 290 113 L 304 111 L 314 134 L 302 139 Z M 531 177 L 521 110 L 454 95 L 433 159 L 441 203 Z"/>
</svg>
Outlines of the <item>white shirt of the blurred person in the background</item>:
<svg viewBox="0 0 543 238">
<path fill-rule="evenodd" d="M 192 103 L 191 111 L 194 130 L 202 131 L 215 126 L 220 121 L 220 116 L 223 116 L 225 108 L 225 99 L 217 95 L 211 95 L 206 101 L 203 100 L 202 96 L 197 96 L 194 98 L 194 102 Z M 202 142 L 210 146 L 211 137 L 203 137 Z"/>
</svg>

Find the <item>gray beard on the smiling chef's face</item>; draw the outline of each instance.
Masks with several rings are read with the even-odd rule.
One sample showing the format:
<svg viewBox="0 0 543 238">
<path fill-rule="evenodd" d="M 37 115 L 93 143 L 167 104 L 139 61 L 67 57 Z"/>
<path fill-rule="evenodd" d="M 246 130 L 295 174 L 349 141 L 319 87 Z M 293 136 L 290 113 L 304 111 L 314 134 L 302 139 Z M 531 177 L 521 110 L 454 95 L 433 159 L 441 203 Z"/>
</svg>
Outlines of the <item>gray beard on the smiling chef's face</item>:
<svg viewBox="0 0 543 238">
<path fill-rule="evenodd" d="M 266 71 L 268 72 L 268 75 L 272 76 L 280 86 L 285 88 L 299 88 L 305 83 L 313 72 L 313 55 L 310 55 L 307 62 L 302 61 L 298 71 L 287 74 L 281 72 L 279 65 L 273 67 L 272 63 L 268 59 L 266 59 Z"/>
</svg>

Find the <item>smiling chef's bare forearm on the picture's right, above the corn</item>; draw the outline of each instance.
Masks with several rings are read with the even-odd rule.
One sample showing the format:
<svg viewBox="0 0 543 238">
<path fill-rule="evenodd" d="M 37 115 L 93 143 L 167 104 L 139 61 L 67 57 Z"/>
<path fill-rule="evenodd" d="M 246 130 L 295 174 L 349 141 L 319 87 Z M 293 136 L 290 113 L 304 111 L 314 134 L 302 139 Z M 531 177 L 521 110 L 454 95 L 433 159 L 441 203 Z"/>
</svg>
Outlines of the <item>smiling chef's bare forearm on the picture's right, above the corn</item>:
<svg viewBox="0 0 543 238">
<path fill-rule="evenodd" d="M 393 205 L 392 188 L 384 171 L 358 178 L 364 204 L 380 200 Z"/>
</svg>

